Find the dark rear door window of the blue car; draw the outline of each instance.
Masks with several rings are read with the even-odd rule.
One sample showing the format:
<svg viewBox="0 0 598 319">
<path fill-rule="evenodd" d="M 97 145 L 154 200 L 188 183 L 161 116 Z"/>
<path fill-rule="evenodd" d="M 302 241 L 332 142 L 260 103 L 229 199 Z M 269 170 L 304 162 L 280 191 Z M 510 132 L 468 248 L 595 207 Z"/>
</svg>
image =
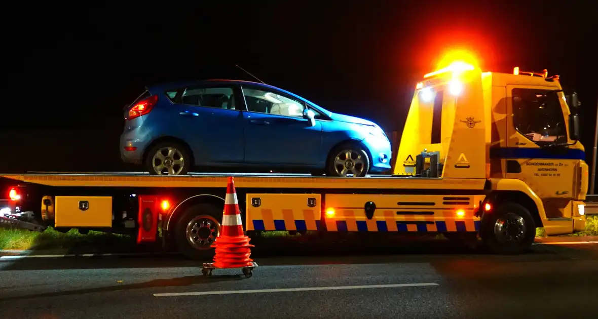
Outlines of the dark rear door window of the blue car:
<svg viewBox="0 0 598 319">
<path fill-rule="evenodd" d="M 181 103 L 207 108 L 236 109 L 234 91 L 230 87 L 188 87 L 182 93 Z"/>
</svg>

